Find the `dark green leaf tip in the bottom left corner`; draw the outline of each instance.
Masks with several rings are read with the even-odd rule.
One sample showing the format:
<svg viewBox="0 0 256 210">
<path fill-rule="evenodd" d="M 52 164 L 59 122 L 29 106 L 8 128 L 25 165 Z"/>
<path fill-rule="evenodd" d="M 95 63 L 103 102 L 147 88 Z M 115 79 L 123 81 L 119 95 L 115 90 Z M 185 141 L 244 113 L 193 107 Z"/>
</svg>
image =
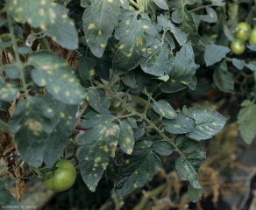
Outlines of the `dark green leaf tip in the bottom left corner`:
<svg viewBox="0 0 256 210">
<path fill-rule="evenodd" d="M 0 207 L 21 208 L 18 201 L 12 196 L 11 192 L 5 188 L 4 181 L 0 179 Z M 13 209 L 13 208 L 12 208 Z"/>
</svg>

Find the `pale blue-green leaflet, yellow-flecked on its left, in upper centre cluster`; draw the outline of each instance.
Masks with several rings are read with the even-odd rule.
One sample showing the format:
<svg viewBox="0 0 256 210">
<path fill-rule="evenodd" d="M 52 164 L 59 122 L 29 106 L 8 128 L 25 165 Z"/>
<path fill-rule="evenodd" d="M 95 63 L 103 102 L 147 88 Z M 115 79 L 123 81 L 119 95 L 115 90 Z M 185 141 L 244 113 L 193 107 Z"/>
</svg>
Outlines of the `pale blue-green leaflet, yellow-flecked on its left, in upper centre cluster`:
<svg viewBox="0 0 256 210">
<path fill-rule="evenodd" d="M 141 59 L 140 66 L 145 73 L 154 76 L 167 75 L 170 68 L 167 46 L 155 38 L 153 44 L 147 48 L 147 56 Z"/>
</svg>

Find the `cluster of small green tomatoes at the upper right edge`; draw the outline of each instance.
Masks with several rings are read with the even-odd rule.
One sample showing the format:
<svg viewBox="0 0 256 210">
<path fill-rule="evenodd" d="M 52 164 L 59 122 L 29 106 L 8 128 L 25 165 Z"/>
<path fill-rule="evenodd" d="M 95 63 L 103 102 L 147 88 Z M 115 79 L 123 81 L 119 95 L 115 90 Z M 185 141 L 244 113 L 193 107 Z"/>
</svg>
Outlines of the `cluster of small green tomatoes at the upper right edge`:
<svg viewBox="0 0 256 210">
<path fill-rule="evenodd" d="M 235 32 L 235 41 L 231 42 L 231 52 L 242 54 L 245 52 L 245 41 L 249 39 L 250 45 L 256 44 L 256 28 L 252 30 L 251 26 L 245 22 L 238 23 Z"/>
</svg>

